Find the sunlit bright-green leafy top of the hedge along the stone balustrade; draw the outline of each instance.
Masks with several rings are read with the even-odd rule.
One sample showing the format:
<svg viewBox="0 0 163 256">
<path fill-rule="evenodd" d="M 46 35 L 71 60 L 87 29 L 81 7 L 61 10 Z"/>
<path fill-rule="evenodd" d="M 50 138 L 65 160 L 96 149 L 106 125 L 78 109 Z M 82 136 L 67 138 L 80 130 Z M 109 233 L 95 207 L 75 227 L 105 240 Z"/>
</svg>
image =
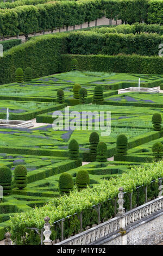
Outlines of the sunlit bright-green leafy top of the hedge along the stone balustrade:
<svg viewBox="0 0 163 256">
<path fill-rule="evenodd" d="M 148 185 L 152 180 L 163 176 L 163 161 L 146 163 L 144 166 L 135 166 L 122 173 L 121 176 L 111 180 L 103 180 L 98 186 L 87 187 L 85 190 L 70 192 L 70 196 L 53 198 L 45 206 L 35 208 L 31 211 L 23 212 L 10 218 L 12 239 L 17 235 L 22 237 L 26 232 L 26 227 L 42 228 L 43 218 L 49 216 L 50 223 L 60 220 L 75 212 L 91 208 L 92 205 L 104 202 L 108 198 L 114 198 L 118 194 L 118 188 L 123 187 L 124 191 L 131 192 L 136 186 Z M 17 238 L 18 239 L 18 238 Z"/>
</svg>

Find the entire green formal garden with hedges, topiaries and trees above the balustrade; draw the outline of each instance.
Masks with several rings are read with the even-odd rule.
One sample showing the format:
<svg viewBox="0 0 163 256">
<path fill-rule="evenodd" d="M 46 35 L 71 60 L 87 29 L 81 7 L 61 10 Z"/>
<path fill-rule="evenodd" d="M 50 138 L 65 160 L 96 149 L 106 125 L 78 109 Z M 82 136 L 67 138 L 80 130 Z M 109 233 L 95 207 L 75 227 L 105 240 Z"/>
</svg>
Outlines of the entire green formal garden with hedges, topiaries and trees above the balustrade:
<svg viewBox="0 0 163 256">
<path fill-rule="evenodd" d="M 16 245 L 40 245 L 34 229 L 46 216 L 55 242 L 107 221 L 119 187 L 127 211 L 158 196 L 162 11 L 162 0 L 0 1 L 0 241 L 10 231 Z M 97 26 L 103 16 L 108 25 Z M 136 92 L 120 93 L 127 88 Z M 74 113 L 68 129 L 65 109 Z M 71 130 L 77 112 L 86 127 Z M 93 112 L 104 113 L 104 125 L 111 113 L 108 136 Z"/>
</svg>

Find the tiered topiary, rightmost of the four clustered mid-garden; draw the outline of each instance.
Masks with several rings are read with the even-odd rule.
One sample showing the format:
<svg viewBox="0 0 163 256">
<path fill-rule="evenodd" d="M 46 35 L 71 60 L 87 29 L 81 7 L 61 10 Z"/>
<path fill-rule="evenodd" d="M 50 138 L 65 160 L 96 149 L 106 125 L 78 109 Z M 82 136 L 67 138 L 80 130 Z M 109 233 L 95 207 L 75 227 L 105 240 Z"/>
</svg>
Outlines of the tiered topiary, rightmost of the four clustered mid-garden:
<svg viewBox="0 0 163 256">
<path fill-rule="evenodd" d="M 126 156 L 128 148 L 128 139 L 126 135 L 118 135 L 116 145 L 117 155 Z"/>
</svg>

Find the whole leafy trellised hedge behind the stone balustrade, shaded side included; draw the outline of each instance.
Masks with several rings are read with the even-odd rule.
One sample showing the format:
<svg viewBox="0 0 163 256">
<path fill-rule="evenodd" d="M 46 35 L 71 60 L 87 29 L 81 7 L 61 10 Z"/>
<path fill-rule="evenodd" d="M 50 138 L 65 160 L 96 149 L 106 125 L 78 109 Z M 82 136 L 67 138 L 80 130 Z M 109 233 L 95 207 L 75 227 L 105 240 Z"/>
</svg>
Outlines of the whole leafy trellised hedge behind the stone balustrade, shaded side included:
<svg viewBox="0 0 163 256">
<path fill-rule="evenodd" d="M 133 191 L 133 206 L 137 202 L 135 188 L 136 186 L 148 186 L 148 199 L 158 196 L 158 185 L 150 182 L 157 180 L 163 176 L 163 161 L 159 163 L 145 164 L 144 166 L 137 166 L 131 168 L 128 173 L 122 173 L 120 177 L 113 178 L 109 181 L 104 180 L 98 186 L 93 188 L 87 187 L 82 191 L 74 190 L 70 192 L 70 196 L 54 198 L 42 208 L 36 208 L 32 211 L 24 212 L 21 215 L 11 217 L 11 234 L 12 240 L 16 245 L 36 245 L 40 243 L 39 236 L 28 230 L 27 227 L 42 228 L 45 216 L 51 218 L 50 223 L 58 221 L 68 215 L 73 215 L 75 212 L 83 212 L 83 228 L 87 225 L 97 223 L 97 213 L 92 210 L 92 206 L 98 203 L 101 205 L 101 221 L 104 217 L 111 217 L 114 214 L 114 208 L 109 204 L 108 198 L 114 199 L 117 196 L 118 188 L 123 187 L 124 191 Z M 125 208 L 129 209 L 128 195 L 124 198 Z M 139 190 L 139 205 L 145 202 L 145 193 L 143 189 Z M 90 222 L 91 220 L 91 222 Z M 64 222 L 64 238 L 71 236 L 74 231 L 80 227 L 80 222 L 77 216 L 73 216 L 73 221 L 65 220 Z M 23 240 L 22 240 L 23 237 Z M 52 229 L 51 239 L 54 240 L 60 237 L 60 229 Z"/>
</svg>

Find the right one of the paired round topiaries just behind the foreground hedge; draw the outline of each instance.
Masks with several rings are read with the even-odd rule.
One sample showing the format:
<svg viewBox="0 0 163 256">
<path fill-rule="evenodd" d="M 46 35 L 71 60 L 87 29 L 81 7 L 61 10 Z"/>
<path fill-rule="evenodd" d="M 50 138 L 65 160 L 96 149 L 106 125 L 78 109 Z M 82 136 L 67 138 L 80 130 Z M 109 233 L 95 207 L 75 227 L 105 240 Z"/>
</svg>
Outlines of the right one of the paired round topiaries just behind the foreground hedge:
<svg viewBox="0 0 163 256">
<path fill-rule="evenodd" d="M 78 188 L 85 188 L 90 184 L 90 177 L 87 170 L 79 170 L 76 176 L 76 184 Z"/>
</svg>

